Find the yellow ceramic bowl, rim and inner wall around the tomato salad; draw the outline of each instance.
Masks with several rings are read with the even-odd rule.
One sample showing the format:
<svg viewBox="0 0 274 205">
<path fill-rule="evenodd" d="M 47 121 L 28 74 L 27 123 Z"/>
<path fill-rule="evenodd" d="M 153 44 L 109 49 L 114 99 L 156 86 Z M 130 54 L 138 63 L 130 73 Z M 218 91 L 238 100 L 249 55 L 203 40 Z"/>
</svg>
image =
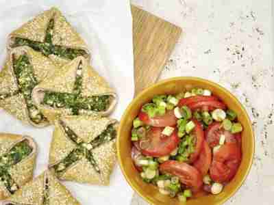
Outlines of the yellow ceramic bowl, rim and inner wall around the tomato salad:
<svg viewBox="0 0 274 205">
<path fill-rule="evenodd" d="M 153 184 L 147 184 L 142 181 L 138 174 L 134 163 L 131 158 L 131 130 L 132 122 L 138 115 L 140 108 L 146 102 L 149 102 L 153 96 L 158 94 L 177 94 L 182 90 L 190 90 L 192 87 L 201 87 L 204 89 L 211 90 L 216 96 L 219 96 L 225 102 L 225 104 L 236 111 L 238 114 L 238 120 L 242 124 L 244 130 L 242 132 L 242 163 L 238 169 L 238 172 L 234 179 L 225 186 L 225 189 L 219 195 L 203 195 L 188 200 L 187 205 L 220 205 L 229 199 L 234 193 L 240 188 L 242 183 L 245 181 L 249 170 L 251 169 L 253 154 L 254 154 L 254 135 L 251 126 L 251 122 L 240 102 L 230 92 L 220 85 L 207 81 L 205 79 L 199 79 L 195 77 L 177 77 L 167 79 L 155 83 L 151 87 L 148 87 L 142 91 L 132 103 L 127 107 L 118 132 L 117 150 L 118 159 L 122 172 L 127 182 L 132 188 L 142 196 L 150 204 L 174 204 L 179 205 L 177 198 L 171 198 L 166 195 L 162 195 L 158 192 L 157 187 Z M 182 204 L 182 203 L 181 203 Z"/>
</svg>

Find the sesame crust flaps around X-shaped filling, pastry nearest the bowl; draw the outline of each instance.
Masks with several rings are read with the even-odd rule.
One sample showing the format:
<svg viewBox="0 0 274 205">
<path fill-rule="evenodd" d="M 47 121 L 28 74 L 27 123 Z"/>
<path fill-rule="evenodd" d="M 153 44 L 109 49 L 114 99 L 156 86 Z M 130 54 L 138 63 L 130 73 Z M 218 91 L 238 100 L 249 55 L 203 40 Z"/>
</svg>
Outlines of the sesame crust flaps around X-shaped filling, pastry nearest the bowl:
<svg viewBox="0 0 274 205">
<path fill-rule="evenodd" d="M 81 122 L 81 123 L 79 123 Z M 64 150 L 64 144 L 71 144 L 72 140 L 68 137 L 64 127 L 61 124 L 69 127 L 77 137 L 79 137 L 84 144 L 92 145 L 92 142 L 97 140 L 99 135 L 103 133 L 108 126 L 112 125 L 115 130 L 118 128 L 118 122 L 110 118 L 102 118 L 99 115 L 80 115 L 80 116 L 65 116 L 55 122 L 55 129 L 58 129 L 58 134 L 53 135 L 53 141 L 50 149 L 49 168 L 51 170 L 58 170 L 56 165 L 60 165 L 62 160 L 74 150 Z M 60 129 L 61 127 L 61 129 Z M 62 130 L 62 135 L 59 131 Z M 56 134 L 56 133 L 55 133 Z M 55 139 L 57 138 L 57 139 Z M 75 143 L 75 147 L 79 146 L 79 143 Z M 108 185 L 110 182 L 110 174 L 116 163 L 116 139 L 112 138 L 110 141 L 101 141 L 98 146 L 90 147 L 88 150 L 92 154 L 92 158 L 96 165 L 93 165 L 88 161 L 87 156 L 80 157 L 77 161 L 69 165 L 64 171 L 56 174 L 61 180 L 72 180 L 81 183 L 101 184 Z M 81 144 L 81 143 L 80 143 Z M 87 147 L 87 146 L 86 146 Z M 62 153 L 68 153 L 62 159 L 59 157 Z M 58 172 L 58 171 L 56 171 Z"/>
</svg>

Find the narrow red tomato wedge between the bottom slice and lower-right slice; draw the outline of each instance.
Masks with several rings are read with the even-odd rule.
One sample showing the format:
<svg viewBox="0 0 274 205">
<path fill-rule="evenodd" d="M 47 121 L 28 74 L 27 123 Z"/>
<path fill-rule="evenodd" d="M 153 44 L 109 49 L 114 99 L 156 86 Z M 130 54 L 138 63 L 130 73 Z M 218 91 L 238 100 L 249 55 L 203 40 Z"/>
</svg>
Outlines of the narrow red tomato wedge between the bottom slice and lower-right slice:
<svg viewBox="0 0 274 205">
<path fill-rule="evenodd" d="M 201 173 L 201 176 L 205 176 L 206 174 L 208 174 L 211 161 L 212 161 L 211 149 L 208 146 L 208 143 L 206 141 L 203 141 L 203 148 L 201 150 L 199 158 L 197 159 L 197 161 L 193 163 L 193 166 L 199 170 L 199 172 Z"/>
</svg>

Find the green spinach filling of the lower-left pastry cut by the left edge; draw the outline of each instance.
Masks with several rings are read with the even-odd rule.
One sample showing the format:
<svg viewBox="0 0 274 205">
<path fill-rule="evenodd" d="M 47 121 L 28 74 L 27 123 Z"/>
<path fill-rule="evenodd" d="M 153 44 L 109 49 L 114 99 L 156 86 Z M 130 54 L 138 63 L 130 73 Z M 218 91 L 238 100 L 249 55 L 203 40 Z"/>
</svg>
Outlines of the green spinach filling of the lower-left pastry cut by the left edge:
<svg viewBox="0 0 274 205">
<path fill-rule="evenodd" d="M 16 165 L 32 153 L 32 147 L 27 141 L 21 141 L 10 150 L 10 152 L 3 154 L 0 157 L 0 180 L 5 184 L 5 187 L 10 193 L 18 190 L 18 185 L 10 176 L 8 170 L 12 165 Z"/>
</svg>

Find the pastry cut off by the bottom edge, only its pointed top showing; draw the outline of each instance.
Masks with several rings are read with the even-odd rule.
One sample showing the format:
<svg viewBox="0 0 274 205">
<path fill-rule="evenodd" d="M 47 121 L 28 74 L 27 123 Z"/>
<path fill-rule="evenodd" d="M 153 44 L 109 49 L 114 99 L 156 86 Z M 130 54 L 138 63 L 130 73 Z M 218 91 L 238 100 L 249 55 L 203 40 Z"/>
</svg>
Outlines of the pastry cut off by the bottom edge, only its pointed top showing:
<svg viewBox="0 0 274 205">
<path fill-rule="evenodd" d="M 46 170 L 28 182 L 3 205 L 80 205 L 68 189 L 62 185 L 52 172 Z"/>
</svg>

